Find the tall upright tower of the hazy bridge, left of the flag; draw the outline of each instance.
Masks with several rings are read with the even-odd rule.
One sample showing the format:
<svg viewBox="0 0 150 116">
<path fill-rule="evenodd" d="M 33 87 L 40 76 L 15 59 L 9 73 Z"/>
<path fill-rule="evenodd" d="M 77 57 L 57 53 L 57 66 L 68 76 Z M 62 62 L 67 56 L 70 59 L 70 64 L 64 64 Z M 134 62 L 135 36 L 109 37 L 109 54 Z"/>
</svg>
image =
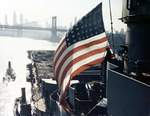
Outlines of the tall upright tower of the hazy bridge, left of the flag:
<svg viewBox="0 0 150 116">
<path fill-rule="evenodd" d="M 52 17 L 52 31 L 51 31 L 51 41 L 57 42 L 58 36 L 57 36 L 57 17 Z"/>
</svg>

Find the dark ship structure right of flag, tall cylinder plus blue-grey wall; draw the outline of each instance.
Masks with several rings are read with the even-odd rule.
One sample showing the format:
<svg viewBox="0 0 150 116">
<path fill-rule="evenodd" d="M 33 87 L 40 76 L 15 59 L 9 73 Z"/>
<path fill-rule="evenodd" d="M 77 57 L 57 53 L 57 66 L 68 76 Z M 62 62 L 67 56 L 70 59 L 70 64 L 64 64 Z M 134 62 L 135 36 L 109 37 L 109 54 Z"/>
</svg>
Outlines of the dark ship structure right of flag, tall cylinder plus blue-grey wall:
<svg viewBox="0 0 150 116">
<path fill-rule="evenodd" d="M 124 68 L 108 69 L 109 115 L 150 115 L 149 11 L 149 0 L 123 1 L 121 20 L 127 24 Z"/>
</svg>

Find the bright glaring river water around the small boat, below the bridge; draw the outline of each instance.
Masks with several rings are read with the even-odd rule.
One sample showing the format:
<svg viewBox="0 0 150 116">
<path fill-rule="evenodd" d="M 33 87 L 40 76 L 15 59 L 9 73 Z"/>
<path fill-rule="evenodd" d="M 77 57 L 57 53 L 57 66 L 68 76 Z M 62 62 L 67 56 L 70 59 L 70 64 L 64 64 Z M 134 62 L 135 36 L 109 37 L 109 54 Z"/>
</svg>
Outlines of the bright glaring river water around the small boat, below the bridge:
<svg viewBox="0 0 150 116">
<path fill-rule="evenodd" d="M 21 96 L 21 87 L 25 87 L 27 98 L 30 98 L 30 83 L 26 80 L 26 64 L 28 50 L 52 50 L 56 43 L 29 38 L 0 37 L 0 116 L 13 116 L 13 104 L 16 97 Z M 16 73 L 15 82 L 8 85 L 2 82 L 8 61 Z M 27 99 L 30 101 L 30 99 Z"/>
</svg>

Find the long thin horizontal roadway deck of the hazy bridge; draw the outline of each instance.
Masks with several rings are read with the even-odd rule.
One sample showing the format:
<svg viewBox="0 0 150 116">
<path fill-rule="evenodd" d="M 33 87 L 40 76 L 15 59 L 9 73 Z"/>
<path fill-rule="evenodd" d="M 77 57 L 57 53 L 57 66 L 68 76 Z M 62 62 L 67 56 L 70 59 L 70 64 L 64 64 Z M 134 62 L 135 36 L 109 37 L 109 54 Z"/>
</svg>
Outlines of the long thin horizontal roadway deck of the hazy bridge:
<svg viewBox="0 0 150 116">
<path fill-rule="evenodd" d="M 66 32 L 67 29 L 60 28 L 44 28 L 44 27 L 31 27 L 31 26 L 22 26 L 22 25 L 0 25 L 2 29 L 16 29 L 16 30 L 43 30 L 43 31 L 58 31 Z"/>
</svg>

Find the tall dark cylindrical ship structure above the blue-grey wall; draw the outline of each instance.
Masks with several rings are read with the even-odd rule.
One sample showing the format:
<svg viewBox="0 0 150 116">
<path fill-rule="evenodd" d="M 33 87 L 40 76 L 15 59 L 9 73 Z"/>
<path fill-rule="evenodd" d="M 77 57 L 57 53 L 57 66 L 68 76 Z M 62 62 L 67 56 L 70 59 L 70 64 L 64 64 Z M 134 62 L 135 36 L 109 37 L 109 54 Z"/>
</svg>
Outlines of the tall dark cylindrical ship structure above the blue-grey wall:
<svg viewBox="0 0 150 116">
<path fill-rule="evenodd" d="M 150 73 L 150 0 L 123 0 L 121 20 L 127 24 L 126 72 Z"/>
</svg>

